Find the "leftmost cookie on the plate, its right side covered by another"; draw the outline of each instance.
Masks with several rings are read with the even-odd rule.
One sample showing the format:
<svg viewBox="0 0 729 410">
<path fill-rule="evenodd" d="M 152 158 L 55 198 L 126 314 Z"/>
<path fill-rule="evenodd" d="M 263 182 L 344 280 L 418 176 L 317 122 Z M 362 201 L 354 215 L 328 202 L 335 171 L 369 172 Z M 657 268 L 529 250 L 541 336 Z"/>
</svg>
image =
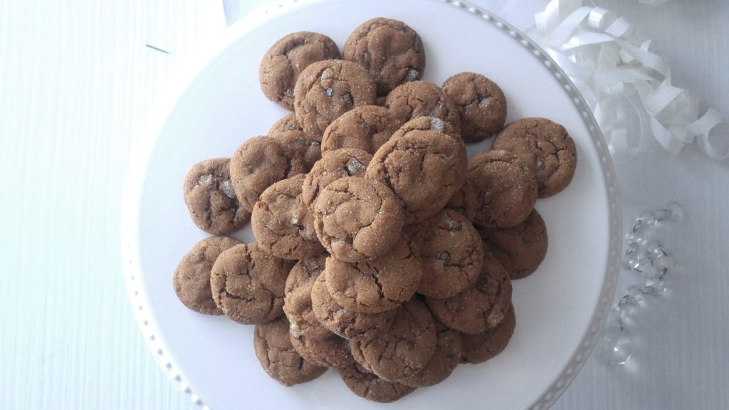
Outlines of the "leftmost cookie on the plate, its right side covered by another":
<svg viewBox="0 0 729 410">
<path fill-rule="evenodd" d="M 223 314 L 213 300 L 210 272 L 218 255 L 240 243 L 233 238 L 213 236 L 199 241 L 182 257 L 172 276 L 172 286 L 184 306 L 199 313 Z"/>
</svg>

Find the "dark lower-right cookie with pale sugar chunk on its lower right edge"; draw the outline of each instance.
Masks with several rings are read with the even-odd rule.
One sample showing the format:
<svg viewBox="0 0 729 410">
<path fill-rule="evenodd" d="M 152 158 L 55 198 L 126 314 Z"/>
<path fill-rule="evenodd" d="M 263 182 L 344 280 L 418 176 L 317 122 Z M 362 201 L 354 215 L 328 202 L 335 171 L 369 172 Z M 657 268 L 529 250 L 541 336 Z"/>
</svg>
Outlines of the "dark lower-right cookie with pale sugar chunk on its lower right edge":
<svg viewBox="0 0 729 410">
<path fill-rule="evenodd" d="M 483 267 L 475 285 L 451 298 L 425 298 L 430 311 L 448 328 L 463 333 L 481 333 L 499 325 L 511 303 L 509 272 L 490 252 L 484 252 Z"/>
</svg>

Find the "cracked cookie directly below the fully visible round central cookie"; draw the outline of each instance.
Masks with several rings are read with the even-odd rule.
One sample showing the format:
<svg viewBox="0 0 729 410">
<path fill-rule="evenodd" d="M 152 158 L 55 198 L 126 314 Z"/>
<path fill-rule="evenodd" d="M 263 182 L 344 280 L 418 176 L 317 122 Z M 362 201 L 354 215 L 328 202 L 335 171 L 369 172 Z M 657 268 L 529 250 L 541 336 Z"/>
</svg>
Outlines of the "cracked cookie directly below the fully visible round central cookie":
<svg viewBox="0 0 729 410">
<path fill-rule="evenodd" d="M 409 301 L 422 276 L 416 244 L 402 237 L 381 258 L 348 263 L 327 258 L 324 268 L 332 298 L 354 312 L 379 313 Z"/>
</svg>

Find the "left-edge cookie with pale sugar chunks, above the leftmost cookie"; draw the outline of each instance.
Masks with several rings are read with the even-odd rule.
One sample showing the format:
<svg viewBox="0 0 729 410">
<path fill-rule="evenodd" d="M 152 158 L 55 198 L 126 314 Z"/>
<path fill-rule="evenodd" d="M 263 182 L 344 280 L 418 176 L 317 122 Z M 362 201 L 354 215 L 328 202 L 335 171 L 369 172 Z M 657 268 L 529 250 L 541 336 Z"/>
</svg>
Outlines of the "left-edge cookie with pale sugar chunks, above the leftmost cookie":
<svg viewBox="0 0 729 410">
<path fill-rule="evenodd" d="M 196 163 L 184 179 L 184 203 L 192 222 L 213 235 L 238 231 L 251 217 L 235 197 L 230 158 Z"/>
</svg>

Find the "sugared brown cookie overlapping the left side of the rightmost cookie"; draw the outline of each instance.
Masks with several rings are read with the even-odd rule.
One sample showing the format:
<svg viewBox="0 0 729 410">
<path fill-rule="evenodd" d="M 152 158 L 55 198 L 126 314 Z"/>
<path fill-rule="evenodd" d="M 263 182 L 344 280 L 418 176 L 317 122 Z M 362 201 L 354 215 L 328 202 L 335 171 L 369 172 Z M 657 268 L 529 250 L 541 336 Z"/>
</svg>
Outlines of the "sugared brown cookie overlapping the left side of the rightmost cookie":
<svg viewBox="0 0 729 410">
<path fill-rule="evenodd" d="M 476 193 L 475 225 L 518 225 L 537 202 L 534 173 L 508 151 L 484 151 L 469 159 L 468 180 Z"/>
</svg>

